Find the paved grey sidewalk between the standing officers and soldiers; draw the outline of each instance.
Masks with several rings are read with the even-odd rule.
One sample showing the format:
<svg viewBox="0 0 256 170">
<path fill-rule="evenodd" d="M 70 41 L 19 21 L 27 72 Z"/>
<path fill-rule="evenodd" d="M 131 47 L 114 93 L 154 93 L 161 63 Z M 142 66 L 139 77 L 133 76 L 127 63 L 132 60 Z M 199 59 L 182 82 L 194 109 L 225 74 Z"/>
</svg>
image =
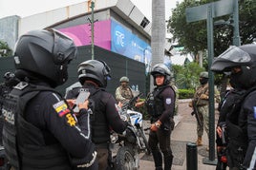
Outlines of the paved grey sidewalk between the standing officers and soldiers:
<svg viewBox="0 0 256 170">
<path fill-rule="evenodd" d="M 190 100 L 179 101 L 179 114 L 175 116 L 175 128 L 171 134 L 171 147 L 174 155 L 172 170 L 186 170 L 186 144 L 197 140 L 196 118 L 191 116 L 192 108 L 188 106 Z M 218 115 L 216 115 L 216 119 Z M 203 146 L 197 147 L 198 150 L 198 169 L 215 170 L 215 165 L 204 164 L 203 159 L 208 160 L 209 153 L 206 151 L 208 139 L 206 132 L 203 133 Z M 216 154 L 215 154 L 216 157 Z M 154 170 L 155 165 L 151 156 L 141 154 L 139 170 Z"/>
</svg>

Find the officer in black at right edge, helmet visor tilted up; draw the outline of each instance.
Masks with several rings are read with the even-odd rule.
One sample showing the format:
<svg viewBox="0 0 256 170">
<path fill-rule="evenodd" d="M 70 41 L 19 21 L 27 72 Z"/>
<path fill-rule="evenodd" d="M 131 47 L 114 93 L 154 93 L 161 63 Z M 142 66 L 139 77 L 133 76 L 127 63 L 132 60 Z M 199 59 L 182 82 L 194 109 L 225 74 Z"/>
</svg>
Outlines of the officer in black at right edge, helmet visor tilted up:
<svg viewBox="0 0 256 170">
<path fill-rule="evenodd" d="M 230 85 L 241 92 L 225 116 L 227 164 L 232 170 L 255 169 L 256 45 L 229 47 L 215 59 L 211 70 L 228 74 Z"/>
</svg>

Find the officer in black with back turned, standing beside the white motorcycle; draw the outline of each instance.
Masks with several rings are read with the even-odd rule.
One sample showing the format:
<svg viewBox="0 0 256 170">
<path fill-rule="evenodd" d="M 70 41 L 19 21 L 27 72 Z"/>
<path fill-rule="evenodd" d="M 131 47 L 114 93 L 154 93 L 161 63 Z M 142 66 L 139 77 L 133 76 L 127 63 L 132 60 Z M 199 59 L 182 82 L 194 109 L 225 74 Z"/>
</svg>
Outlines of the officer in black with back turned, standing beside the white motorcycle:
<svg viewBox="0 0 256 170">
<path fill-rule="evenodd" d="M 119 117 L 114 96 L 105 91 L 110 79 L 110 67 L 104 61 L 88 60 L 78 66 L 78 79 L 83 88 L 90 91 L 92 141 L 96 143 L 98 169 L 107 169 L 110 131 L 122 133 L 127 126 Z M 66 98 L 75 99 L 78 91 L 79 87 L 74 88 Z"/>
</svg>

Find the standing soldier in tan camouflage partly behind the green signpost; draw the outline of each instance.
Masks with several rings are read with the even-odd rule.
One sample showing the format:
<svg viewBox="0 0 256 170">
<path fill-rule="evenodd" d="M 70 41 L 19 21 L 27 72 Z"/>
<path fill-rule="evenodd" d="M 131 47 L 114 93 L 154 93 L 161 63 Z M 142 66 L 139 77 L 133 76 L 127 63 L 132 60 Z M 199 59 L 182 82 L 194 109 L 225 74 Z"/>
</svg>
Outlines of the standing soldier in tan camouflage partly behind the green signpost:
<svg viewBox="0 0 256 170">
<path fill-rule="evenodd" d="M 195 102 L 195 106 L 198 110 L 199 120 L 201 125 L 197 123 L 197 134 L 198 140 L 197 145 L 203 145 L 203 127 L 207 133 L 209 138 L 209 85 L 208 85 L 208 72 L 203 71 L 200 73 L 200 86 L 197 87 L 197 90 L 194 94 L 193 101 Z M 217 103 L 220 102 L 220 93 L 217 88 L 214 89 L 215 93 L 215 100 Z M 189 103 L 189 106 L 192 107 L 192 102 Z"/>
</svg>

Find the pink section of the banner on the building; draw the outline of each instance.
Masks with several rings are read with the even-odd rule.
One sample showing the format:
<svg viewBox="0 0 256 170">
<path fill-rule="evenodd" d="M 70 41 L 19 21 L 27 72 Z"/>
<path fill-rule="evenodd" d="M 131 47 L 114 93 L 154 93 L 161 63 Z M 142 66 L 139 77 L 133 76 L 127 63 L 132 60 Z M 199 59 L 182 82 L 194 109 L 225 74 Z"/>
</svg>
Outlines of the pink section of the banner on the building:
<svg viewBox="0 0 256 170">
<path fill-rule="evenodd" d="M 61 32 L 73 38 L 75 45 L 86 46 L 91 45 L 92 33 L 89 24 L 78 25 L 70 28 L 60 28 Z M 94 25 L 95 45 L 105 49 L 111 49 L 111 20 L 97 21 Z"/>
</svg>

